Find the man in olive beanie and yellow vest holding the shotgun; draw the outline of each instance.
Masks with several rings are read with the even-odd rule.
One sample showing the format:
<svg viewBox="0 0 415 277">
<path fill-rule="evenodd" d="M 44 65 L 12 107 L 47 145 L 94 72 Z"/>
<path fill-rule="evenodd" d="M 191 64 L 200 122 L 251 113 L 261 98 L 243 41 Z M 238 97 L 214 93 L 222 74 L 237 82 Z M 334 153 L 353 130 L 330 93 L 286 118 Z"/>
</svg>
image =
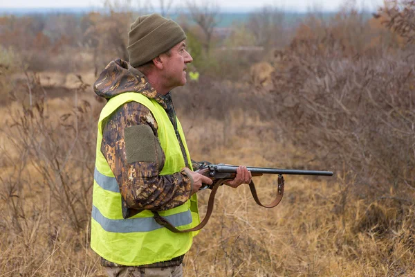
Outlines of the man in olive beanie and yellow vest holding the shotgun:
<svg viewBox="0 0 415 277">
<path fill-rule="evenodd" d="M 91 248 L 109 276 L 183 276 L 184 254 L 199 224 L 196 192 L 212 180 L 197 170 L 176 118 L 170 91 L 186 83 L 192 56 L 185 33 L 160 15 L 138 17 L 129 32 L 129 63 L 110 62 L 94 84 L 108 100 L 98 122 Z M 249 183 L 240 166 L 228 182 Z"/>
</svg>

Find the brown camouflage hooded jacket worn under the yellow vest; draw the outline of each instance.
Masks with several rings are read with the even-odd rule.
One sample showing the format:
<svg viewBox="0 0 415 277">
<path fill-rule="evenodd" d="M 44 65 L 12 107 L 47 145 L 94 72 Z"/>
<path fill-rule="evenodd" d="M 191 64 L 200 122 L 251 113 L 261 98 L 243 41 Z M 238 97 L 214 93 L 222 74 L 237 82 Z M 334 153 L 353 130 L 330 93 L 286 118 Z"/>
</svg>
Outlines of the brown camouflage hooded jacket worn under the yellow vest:
<svg viewBox="0 0 415 277">
<path fill-rule="evenodd" d="M 95 82 L 94 91 L 107 100 L 127 91 L 142 93 L 164 107 L 176 128 L 176 113 L 170 93 L 166 96 L 158 94 L 140 71 L 123 60 L 114 60 L 107 65 Z M 149 153 L 154 157 L 152 162 L 139 159 L 127 161 L 132 148 L 129 148 L 131 142 L 124 134 L 136 125 L 149 126 L 152 131 L 151 136 L 157 141 L 156 147 Z M 172 175 L 159 175 L 165 163 L 165 154 L 157 139 L 157 128 L 157 122 L 151 111 L 138 102 L 125 103 L 102 123 L 101 152 L 120 186 L 122 213 L 125 218 L 142 210 L 163 211 L 174 208 L 190 198 L 192 179 L 184 170 Z M 137 140 L 135 143 L 138 143 Z M 181 138 L 179 143 L 184 152 Z M 188 168 L 187 159 L 185 161 Z M 197 170 L 199 163 L 192 161 L 192 166 Z"/>
</svg>

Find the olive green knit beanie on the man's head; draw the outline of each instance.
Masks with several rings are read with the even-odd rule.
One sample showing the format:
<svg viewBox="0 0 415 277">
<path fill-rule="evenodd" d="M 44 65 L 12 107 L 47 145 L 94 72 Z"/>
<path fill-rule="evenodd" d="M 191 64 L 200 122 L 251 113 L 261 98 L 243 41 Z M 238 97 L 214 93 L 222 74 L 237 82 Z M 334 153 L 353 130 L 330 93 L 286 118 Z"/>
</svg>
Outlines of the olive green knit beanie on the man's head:
<svg viewBox="0 0 415 277">
<path fill-rule="evenodd" d="M 185 32 L 172 19 L 142 15 L 128 33 L 129 63 L 133 67 L 145 64 L 185 39 Z"/>
</svg>

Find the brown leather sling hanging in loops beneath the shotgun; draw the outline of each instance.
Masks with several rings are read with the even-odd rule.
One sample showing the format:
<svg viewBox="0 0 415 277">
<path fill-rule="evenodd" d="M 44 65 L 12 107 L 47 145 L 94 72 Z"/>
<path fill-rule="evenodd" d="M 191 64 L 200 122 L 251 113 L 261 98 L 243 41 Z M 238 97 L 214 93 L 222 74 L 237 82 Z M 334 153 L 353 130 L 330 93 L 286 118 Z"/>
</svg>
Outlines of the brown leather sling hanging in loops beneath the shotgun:
<svg viewBox="0 0 415 277">
<path fill-rule="evenodd" d="M 228 180 L 227 179 L 220 179 L 219 181 L 217 181 L 214 184 L 214 186 L 212 188 L 212 192 L 210 193 L 210 196 L 209 196 L 208 211 L 206 211 L 205 218 L 203 218 L 202 222 L 199 225 L 197 225 L 197 226 L 195 226 L 191 229 L 179 230 L 176 227 L 174 227 L 168 220 L 166 220 L 164 217 L 159 215 L 157 211 L 152 211 L 154 213 L 154 220 L 156 220 L 156 222 L 158 224 L 164 226 L 165 228 L 169 229 L 173 233 L 187 233 L 187 232 L 192 232 L 192 231 L 199 231 L 200 229 L 202 229 L 208 223 L 208 221 L 210 219 L 210 215 L 212 215 L 212 212 L 213 212 L 214 197 L 216 195 L 216 191 L 218 190 L 219 186 L 221 186 L 225 181 L 228 181 Z M 251 180 L 251 182 L 249 184 L 249 188 L 250 188 L 252 197 L 254 197 L 255 202 L 257 202 L 257 204 L 259 206 L 263 206 L 265 208 L 274 208 L 275 206 L 277 206 L 279 204 L 279 202 L 281 202 L 281 199 L 284 195 L 284 177 L 282 177 L 282 175 L 278 175 L 278 193 L 277 193 L 277 197 L 269 205 L 264 205 L 259 201 L 259 198 L 258 198 L 258 195 L 257 195 L 257 190 L 255 189 L 254 181 Z"/>
</svg>

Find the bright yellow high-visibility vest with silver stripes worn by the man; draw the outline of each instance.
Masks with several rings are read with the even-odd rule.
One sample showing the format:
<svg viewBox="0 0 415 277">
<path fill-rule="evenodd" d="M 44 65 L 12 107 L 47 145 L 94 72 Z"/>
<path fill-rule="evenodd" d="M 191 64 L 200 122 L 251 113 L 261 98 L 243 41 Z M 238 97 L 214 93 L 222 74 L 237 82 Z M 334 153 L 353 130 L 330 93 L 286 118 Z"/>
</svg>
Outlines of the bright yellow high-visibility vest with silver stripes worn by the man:
<svg viewBox="0 0 415 277">
<path fill-rule="evenodd" d="M 142 211 L 133 217 L 122 217 L 121 194 L 116 178 L 101 153 L 102 121 L 126 102 L 139 102 L 149 108 L 158 124 L 158 139 L 165 152 L 165 165 L 160 175 L 171 175 L 185 167 L 183 154 L 174 127 L 167 113 L 154 99 L 140 93 L 126 92 L 107 102 L 98 121 L 98 139 L 93 181 L 91 220 L 91 248 L 106 260 L 120 265 L 148 265 L 171 260 L 189 251 L 197 232 L 172 233 L 156 223 L 151 211 Z M 183 141 L 190 166 L 189 150 L 180 122 L 178 132 Z M 192 168 L 191 168 L 192 169 Z M 185 204 L 159 214 L 177 229 L 193 228 L 200 223 L 196 193 Z"/>
</svg>

